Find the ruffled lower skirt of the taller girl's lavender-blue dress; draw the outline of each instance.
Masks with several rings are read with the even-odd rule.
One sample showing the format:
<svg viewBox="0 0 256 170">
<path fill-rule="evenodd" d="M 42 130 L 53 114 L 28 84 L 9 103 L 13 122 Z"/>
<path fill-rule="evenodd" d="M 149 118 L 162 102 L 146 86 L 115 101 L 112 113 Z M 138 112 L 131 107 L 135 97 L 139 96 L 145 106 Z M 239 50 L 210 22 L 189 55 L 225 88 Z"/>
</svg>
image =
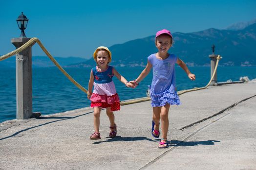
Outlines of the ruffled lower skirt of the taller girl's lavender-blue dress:
<svg viewBox="0 0 256 170">
<path fill-rule="evenodd" d="M 161 107 L 166 104 L 181 104 L 179 96 L 177 93 L 171 93 L 171 92 L 164 92 L 160 94 L 152 94 L 150 93 L 151 98 L 151 106 L 152 107 Z"/>
</svg>

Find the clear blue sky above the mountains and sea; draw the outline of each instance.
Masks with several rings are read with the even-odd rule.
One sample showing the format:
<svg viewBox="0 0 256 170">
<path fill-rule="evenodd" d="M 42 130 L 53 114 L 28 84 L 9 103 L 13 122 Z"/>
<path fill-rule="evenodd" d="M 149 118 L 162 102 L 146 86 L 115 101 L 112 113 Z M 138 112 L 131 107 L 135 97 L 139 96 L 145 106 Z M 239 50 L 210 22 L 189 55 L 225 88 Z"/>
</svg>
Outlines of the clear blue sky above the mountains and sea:
<svg viewBox="0 0 256 170">
<path fill-rule="evenodd" d="M 98 46 L 163 28 L 190 33 L 250 21 L 256 0 L 0 0 L 0 55 L 15 49 L 10 40 L 20 36 L 21 12 L 29 19 L 27 37 L 38 37 L 53 56 L 90 58 Z M 45 55 L 38 45 L 32 53 Z"/>
</svg>

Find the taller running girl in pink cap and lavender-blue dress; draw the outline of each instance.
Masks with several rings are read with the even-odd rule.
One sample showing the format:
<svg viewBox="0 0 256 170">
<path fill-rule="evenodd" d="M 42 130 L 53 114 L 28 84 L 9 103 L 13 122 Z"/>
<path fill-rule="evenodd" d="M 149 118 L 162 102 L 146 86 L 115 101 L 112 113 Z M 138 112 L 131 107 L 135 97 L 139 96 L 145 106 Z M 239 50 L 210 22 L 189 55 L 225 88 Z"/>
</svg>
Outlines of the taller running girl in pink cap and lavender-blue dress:
<svg viewBox="0 0 256 170">
<path fill-rule="evenodd" d="M 137 79 L 130 81 L 135 86 L 139 85 L 153 68 L 153 79 L 149 86 L 151 106 L 153 107 L 151 134 L 156 138 L 160 136 L 161 119 L 162 138 L 158 148 L 168 148 L 169 108 L 172 104 L 180 104 L 179 96 L 175 90 L 175 63 L 184 69 L 191 80 L 195 80 L 195 75 L 190 72 L 186 64 L 176 55 L 168 53 L 172 42 L 170 31 L 166 29 L 158 31 L 155 36 L 155 46 L 158 52 L 149 55 L 146 68 Z"/>
</svg>

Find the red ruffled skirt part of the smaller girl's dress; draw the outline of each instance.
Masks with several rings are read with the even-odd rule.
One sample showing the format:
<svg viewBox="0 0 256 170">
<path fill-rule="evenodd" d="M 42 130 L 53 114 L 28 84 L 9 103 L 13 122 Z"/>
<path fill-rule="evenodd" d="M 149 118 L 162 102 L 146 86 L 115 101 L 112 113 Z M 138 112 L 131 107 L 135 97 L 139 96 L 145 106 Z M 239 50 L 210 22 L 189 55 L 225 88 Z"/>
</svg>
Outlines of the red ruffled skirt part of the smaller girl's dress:
<svg viewBox="0 0 256 170">
<path fill-rule="evenodd" d="M 108 108 L 110 107 L 110 111 L 120 110 L 120 99 L 118 94 L 114 94 L 112 96 L 99 95 L 96 93 L 92 93 L 91 95 L 91 107 L 100 107 L 100 108 Z"/>
</svg>

